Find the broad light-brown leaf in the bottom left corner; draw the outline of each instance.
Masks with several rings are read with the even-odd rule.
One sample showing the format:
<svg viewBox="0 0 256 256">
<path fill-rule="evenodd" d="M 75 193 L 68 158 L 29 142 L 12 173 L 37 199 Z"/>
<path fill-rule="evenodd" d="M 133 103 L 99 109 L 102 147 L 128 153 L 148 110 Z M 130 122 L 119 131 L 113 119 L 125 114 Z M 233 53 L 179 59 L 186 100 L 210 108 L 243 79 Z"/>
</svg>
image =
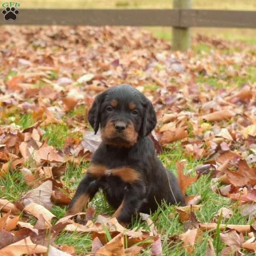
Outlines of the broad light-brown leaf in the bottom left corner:
<svg viewBox="0 0 256 256">
<path fill-rule="evenodd" d="M 46 253 L 47 247 L 34 244 L 30 237 L 10 244 L 0 250 L 0 255 L 20 256 L 22 254 Z"/>
</svg>

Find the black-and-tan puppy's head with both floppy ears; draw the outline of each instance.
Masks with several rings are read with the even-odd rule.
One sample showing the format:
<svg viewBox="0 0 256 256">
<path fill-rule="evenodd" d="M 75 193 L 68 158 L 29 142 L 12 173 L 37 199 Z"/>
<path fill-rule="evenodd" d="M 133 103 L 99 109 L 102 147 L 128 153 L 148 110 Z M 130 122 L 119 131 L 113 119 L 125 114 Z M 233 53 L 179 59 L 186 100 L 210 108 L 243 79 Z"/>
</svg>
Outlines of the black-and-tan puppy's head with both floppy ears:
<svg viewBox="0 0 256 256">
<path fill-rule="evenodd" d="M 95 134 L 115 147 L 131 147 L 147 136 L 157 123 L 151 102 L 134 87 L 120 84 L 99 94 L 88 113 Z"/>
</svg>

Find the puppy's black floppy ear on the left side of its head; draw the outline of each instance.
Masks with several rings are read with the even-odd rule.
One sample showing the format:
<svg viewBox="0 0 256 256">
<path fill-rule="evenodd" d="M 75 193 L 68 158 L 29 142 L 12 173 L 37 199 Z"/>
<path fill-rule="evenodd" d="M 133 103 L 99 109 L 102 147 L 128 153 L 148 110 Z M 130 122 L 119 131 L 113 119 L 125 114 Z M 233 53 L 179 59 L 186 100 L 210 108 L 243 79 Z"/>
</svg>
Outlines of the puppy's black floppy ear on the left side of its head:
<svg viewBox="0 0 256 256">
<path fill-rule="evenodd" d="M 93 102 L 93 105 L 92 105 L 92 107 L 90 108 L 90 110 L 88 112 L 88 121 L 89 121 L 90 125 L 93 127 L 93 130 L 94 130 L 95 134 L 99 130 L 99 124 L 101 122 L 101 120 L 100 120 L 100 108 L 101 108 L 102 102 L 105 99 L 105 95 L 106 95 L 105 92 L 99 94 L 95 98 L 95 100 Z"/>
</svg>

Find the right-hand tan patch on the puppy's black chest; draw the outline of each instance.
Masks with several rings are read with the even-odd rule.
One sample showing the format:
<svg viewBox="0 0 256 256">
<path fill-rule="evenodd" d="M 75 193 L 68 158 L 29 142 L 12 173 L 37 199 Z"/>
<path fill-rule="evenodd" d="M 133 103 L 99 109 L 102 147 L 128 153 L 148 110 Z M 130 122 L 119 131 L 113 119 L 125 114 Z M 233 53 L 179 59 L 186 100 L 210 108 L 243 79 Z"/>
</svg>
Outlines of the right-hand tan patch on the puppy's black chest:
<svg viewBox="0 0 256 256">
<path fill-rule="evenodd" d="M 127 183 L 140 180 L 140 173 L 127 166 L 111 169 L 110 171 L 111 175 L 118 176 L 122 181 Z"/>
</svg>

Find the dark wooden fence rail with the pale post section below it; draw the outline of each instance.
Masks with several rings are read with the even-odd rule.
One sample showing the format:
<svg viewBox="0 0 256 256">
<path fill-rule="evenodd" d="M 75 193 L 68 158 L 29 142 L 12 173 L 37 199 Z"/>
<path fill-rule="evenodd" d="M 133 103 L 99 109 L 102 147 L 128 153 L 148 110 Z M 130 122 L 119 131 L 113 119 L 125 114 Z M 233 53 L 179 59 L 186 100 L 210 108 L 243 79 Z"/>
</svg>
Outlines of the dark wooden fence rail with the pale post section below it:
<svg viewBox="0 0 256 256">
<path fill-rule="evenodd" d="M 20 9 L 0 25 L 172 26 L 175 49 L 189 47 L 190 27 L 256 28 L 256 11 L 198 9 Z M 176 34 L 175 34 L 176 33 Z"/>
</svg>

